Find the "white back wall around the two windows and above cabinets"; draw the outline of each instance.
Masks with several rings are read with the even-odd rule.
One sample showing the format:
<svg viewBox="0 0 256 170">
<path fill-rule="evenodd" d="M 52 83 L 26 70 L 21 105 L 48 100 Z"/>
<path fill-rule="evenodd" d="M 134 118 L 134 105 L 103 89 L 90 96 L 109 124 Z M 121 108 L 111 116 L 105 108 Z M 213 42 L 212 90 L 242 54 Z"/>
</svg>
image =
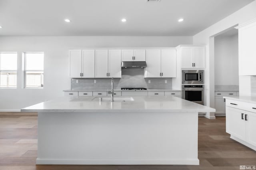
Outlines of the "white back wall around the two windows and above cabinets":
<svg viewBox="0 0 256 170">
<path fill-rule="evenodd" d="M 0 37 L 0 51 L 18 52 L 17 89 L 0 89 L 0 111 L 22 109 L 48 99 L 60 97 L 70 89 L 68 49 L 78 47 L 176 47 L 192 44 L 192 37 Z M 44 51 L 44 89 L 22 89 L 22 52 Z"/>
</svg>

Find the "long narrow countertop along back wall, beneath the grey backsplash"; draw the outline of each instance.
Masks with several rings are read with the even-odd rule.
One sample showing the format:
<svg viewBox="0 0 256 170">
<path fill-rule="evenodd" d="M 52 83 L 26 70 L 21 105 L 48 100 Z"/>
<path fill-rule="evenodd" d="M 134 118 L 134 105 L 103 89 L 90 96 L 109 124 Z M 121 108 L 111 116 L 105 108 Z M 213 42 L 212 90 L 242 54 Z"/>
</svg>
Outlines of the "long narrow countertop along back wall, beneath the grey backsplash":
<svg viewBox="0 0 256 170">
<path fill-rule="evenodd" d="M 68 90 L 63 90 L 64 92 L 69 92 L 69 91 L 108 91 L 111 89 L 68 89 Z M 175 90 L 175 89 L 147 89 L 147 90 L 120 90 L 120 89 L 114 89 L 114 91 L 130 91 L 130 92 L 134 92 L 134 91 L 181 91 L 181 90 Z"/>
</svg>

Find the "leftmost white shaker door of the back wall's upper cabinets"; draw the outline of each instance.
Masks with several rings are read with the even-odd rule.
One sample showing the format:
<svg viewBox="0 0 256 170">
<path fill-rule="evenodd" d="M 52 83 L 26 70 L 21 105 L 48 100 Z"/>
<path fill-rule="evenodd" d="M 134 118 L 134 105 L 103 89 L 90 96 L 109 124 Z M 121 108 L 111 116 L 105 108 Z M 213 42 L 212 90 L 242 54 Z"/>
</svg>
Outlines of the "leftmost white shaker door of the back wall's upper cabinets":
<svg viewBox="0 0 256 170">
<path fill-rule="evenodd" d="M 80 78 L 82 73 L 82 50 L 69 50 L 70 77 Z"/>
</svg>

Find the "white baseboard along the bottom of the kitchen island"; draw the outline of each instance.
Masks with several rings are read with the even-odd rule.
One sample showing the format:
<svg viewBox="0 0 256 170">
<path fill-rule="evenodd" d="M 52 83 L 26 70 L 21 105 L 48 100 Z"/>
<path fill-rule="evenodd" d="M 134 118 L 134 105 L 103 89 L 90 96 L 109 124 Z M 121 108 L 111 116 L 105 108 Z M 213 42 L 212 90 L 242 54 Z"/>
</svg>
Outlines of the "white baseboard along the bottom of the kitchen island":
<svg viewBox="0 0 256 170">
<path fill-rule="evenodd" d="M 42 159 L 36 164 L 58 165 L 199 165 L 199 159 Z"/>
</svg>

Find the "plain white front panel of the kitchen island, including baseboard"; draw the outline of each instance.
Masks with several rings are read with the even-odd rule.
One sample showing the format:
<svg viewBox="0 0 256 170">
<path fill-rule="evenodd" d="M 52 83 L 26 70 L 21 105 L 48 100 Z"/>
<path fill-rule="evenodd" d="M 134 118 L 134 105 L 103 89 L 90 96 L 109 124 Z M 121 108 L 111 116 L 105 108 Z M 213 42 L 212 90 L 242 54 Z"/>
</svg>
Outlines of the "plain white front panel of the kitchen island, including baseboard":
<svg viewBox="0 0 256 170">
<path fill-rule="evenodd" d="M 41 112 L 36 163 L 198 165 L 198 113 Z"/>
</svg>

